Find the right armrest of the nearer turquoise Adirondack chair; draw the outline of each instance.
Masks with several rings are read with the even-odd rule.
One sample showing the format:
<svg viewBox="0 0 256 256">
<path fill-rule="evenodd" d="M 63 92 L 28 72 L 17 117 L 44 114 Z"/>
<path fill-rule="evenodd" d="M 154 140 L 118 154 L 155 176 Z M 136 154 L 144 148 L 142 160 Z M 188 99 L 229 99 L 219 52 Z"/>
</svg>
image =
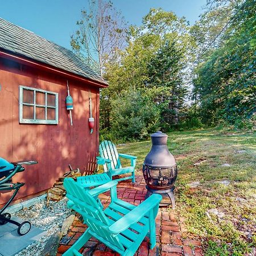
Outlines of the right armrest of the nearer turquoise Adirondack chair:
<svg viewBox="0 0 256 256">
<path fill-rule="evenodd" d="M 146 213 L 150 212 L 150 210 L 153 210 L 155 207 L 159 207 L 159 203 L 161 200 L 161 195 L 151 195 L 150 197 L 148 197 L 148 199 L 143 201 L 136 208 L 134 208 L 125 216 L 120 218 L 118 221 L 115 221 L 114 224 L 109 226 L 109 231 L 113 234 L 119 234 L 126 230 L 127 228 L 130 228 L 132 224 L 141 220 L 141 218 L 145 216 Z"/>
</svg>

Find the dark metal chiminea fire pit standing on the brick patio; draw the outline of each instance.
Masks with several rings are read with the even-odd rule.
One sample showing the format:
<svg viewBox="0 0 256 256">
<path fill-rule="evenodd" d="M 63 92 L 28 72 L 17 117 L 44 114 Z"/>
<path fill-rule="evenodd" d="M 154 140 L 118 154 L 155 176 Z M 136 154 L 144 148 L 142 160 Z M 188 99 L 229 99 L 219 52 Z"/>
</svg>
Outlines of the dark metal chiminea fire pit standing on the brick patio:
<svg viewBox="0 0 256 256">
<path fill-rule="evenodd" d="M 162 131 L 151 134 L 152 147 L 143 163 L 143 176 L 147 184 L 146 198 L 152 193 L 160 193 L 163 196 L 160 206 L 172 204 L 175 209 L 177 164 L 167 148 L 167 137 Z"/>
</svg>

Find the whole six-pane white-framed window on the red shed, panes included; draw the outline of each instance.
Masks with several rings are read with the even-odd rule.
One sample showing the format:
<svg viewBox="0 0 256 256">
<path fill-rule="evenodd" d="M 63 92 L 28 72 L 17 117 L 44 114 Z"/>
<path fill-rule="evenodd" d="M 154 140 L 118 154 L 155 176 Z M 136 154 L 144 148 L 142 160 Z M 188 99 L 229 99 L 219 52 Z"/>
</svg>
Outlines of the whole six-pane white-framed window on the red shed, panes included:
<svg viewBox="0 0 256 256">
<path fill-rule="evenodd" d="M 19 122 L 57 125 L 58 93 L 20 85 Z"/>
</svg>

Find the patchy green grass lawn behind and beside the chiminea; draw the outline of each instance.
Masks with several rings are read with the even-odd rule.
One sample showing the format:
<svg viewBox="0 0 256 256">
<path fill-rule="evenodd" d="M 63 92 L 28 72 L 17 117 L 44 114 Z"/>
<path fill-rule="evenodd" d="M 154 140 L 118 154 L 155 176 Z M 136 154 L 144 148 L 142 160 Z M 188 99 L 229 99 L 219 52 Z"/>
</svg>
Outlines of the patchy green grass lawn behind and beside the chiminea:
<svg viewBox="0 0 256 256">
<path fill-rule="evenodd" d="M 188 236 L 203 241 L 205 255 L 249 255 L 256 246 L 255 133 L 205 129 L 168 135 L 179 168 L 176 209 Z M 138 156 L 142 175 L 150 148 L 151 141 L 143 141 L 122 144 L 118 151 Z M 200 184 L 192 188 L 193 181 Z"/>
</svg>

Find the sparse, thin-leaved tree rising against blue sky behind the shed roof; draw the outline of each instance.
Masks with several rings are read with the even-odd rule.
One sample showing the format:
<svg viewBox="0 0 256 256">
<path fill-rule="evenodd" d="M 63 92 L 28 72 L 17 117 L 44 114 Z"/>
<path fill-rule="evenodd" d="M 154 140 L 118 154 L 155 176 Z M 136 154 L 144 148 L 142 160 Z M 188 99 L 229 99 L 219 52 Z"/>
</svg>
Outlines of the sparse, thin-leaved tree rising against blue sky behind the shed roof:
<svg viewBox="0 0 256 256">
<path fill-rule="evenodd" d="M 81 11 L 71 46 L 88 67 L 104 75 L 108 61 L 114 63 L 126 43 L 127 24 L 109 0 L 88 0 L 89 11 Z"/>
</svg>

